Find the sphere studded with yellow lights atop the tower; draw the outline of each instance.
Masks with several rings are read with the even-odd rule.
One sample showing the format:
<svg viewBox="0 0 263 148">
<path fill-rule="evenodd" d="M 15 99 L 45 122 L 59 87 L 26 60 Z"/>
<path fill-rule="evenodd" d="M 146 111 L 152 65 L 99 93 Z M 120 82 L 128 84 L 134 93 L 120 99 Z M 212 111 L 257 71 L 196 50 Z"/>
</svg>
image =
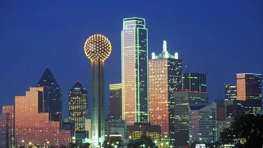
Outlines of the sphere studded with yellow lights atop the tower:
<svg viewBox="0 0 263 148">
<path fill-rule="evenodd" d="M 90 60 L 106 60 L 112 52 L 112 45 L 105 36 L 94 34 L 85 42 L 84 51 Z"/>
</svg>

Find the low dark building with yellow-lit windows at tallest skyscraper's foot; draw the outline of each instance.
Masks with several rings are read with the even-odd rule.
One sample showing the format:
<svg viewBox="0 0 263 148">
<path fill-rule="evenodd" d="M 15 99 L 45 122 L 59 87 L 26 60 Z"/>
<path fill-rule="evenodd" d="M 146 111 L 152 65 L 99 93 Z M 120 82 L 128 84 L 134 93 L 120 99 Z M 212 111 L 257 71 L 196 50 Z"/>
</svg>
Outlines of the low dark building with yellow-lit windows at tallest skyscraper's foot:
<svg viewBox="0 0 263 148">
<path fill-rule="evenodd" d="M 130 132 L 130 137 L 134 139 L 146 136 L 156 141 L 161 140 L 161 126 L 151 125 L 150 123 L 135 123 L 134 125 L 128 125 L 127 128 Z"/>
</svg>

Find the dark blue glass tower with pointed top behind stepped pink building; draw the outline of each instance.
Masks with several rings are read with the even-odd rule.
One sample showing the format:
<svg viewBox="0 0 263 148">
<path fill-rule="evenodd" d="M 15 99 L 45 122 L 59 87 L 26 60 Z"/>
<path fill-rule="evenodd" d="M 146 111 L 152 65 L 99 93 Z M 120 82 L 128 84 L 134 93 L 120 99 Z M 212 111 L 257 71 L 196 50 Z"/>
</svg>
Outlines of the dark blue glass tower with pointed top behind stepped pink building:
<svg viewBox="0 0 263 148">
<path fill-rule="evenodd" d="M 44 112 L 50 113 L 51 121 L 62 121 L 62 91 L 48 67 L 36 87 L 48 88 L 48 97 L 44 100 Z"/>
</svg>

